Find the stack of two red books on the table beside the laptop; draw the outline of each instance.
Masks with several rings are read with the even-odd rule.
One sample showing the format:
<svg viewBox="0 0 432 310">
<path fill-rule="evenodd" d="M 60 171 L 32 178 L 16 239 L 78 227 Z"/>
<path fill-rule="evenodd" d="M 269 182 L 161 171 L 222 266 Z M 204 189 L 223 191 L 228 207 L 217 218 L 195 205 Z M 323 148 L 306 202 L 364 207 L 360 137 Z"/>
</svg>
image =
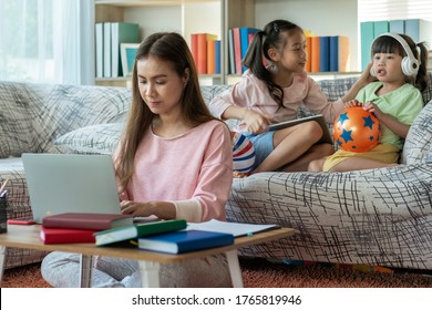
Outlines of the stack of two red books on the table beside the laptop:
<svg viewBox="0 0 432 310">
<path fill-rule="evenodd" d="M 133 217 L 121 214 L 65 213 L 42 219 L 43 244 L 94 242 L 94 234 L 133 224 Z"/>
</svg>

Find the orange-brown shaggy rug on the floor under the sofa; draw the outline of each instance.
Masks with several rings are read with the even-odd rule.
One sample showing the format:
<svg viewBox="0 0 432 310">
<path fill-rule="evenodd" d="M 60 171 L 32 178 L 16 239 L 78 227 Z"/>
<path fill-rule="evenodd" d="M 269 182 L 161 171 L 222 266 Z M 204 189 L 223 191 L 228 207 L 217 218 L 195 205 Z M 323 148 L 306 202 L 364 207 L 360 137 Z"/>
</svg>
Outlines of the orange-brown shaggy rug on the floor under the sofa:
<svg viewBox="0 0 432 310">
<path fill-rule="evenodd" d="M 246 288 L 432 288 L 432 276 L 361 271 L 325 264 L 304 266 L 240 258 Z M 39 264 L 4 270 L 2 288 L 49 288 Z"/>
</svg>

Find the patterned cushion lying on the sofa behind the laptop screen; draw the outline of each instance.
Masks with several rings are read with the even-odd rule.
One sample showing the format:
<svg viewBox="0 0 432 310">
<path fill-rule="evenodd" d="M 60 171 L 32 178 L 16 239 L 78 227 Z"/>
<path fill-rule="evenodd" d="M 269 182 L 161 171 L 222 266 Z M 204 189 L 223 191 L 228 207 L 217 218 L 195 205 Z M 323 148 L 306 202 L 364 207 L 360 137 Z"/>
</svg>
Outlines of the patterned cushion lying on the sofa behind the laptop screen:
<svg viewBox="0 0 432 310">
<path fill-rule="evenodd" d="M 123 123 L 90 125 L 60 136 L 54 145 L 68 153 L 111 155 L 122 130 Z"/>
</svg>

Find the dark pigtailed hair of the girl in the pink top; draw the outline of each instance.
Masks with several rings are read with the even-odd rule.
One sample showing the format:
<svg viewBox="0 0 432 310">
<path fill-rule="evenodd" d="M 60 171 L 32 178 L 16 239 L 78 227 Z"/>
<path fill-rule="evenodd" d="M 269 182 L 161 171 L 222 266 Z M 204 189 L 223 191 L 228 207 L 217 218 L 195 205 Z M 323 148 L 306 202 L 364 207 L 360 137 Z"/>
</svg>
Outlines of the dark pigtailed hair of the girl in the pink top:
<svg viewBox="0 0 432 310">
<path fill-rule="evenodd" d="M 284 90 L 272 81 L 271 73 L 263 63 L 263 56 L 271 62 L 271 59 L 268 55 L 268 50 L 270 48 L 275 48 L 279 52 L 282 52 L 287 44 L 286 35 L 282 34 L 288 31 L 302 32 L 302 29 L 287 20 L 274 20 L 269 22 L 265 25 L 263 31 L 259 31 L 254 35 L 243 61 L 243 64 L 248 68 L 255 76 L 267 84 L 271 97 L 278 103 L 279 107 L 284 106 Z"/>
</svg>

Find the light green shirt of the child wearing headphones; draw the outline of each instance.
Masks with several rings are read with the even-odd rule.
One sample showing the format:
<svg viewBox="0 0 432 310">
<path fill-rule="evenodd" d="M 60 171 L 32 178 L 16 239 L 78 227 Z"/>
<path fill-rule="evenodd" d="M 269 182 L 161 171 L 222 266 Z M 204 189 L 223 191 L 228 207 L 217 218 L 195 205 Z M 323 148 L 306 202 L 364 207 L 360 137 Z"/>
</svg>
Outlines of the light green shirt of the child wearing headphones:
<svg viewBox="0 0 432 310">
<path fill-rule="evenodd" d="M 413 85 L 405 83 L 398 90 L 379 96 L 377 92 L 381 86 L 382 82 L 370 83 L 360 90 L 356 99 L 361 103 L 372 101 L 383 113 L 393 116 L 403 124 L 411 125 L 423 108 L 421 92 Z M 380 126 L 381 136 L 379 143 L 391 144 L 402 148 L 403 140 L 383 124 L 380 124 Z"/>
</svg>

